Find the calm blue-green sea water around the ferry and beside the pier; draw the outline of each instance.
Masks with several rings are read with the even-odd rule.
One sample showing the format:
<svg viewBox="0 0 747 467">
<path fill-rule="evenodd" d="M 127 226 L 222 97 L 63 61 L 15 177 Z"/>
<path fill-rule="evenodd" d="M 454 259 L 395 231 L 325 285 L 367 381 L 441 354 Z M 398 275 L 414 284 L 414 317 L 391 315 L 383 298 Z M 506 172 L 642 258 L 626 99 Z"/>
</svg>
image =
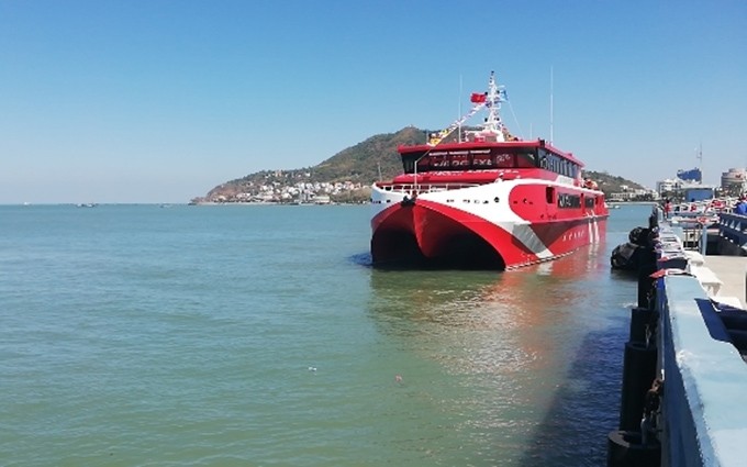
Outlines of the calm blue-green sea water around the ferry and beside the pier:
<svg viewBox="0 0 747 467">
<path fill-rule="evenodd" d="M 367 207 L 0 207 L 0 465 L 599 466 L 635 281 L 368 266 Z"/>
</svg>

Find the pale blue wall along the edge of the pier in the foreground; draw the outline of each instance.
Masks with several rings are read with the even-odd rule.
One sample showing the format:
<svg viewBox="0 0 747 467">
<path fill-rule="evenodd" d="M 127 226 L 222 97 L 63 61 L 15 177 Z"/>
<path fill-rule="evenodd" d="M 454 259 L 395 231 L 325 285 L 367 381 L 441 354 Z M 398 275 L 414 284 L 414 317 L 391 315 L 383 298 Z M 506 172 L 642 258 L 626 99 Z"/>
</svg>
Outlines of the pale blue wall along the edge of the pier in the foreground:
<svg viewBox="0 0 747 467">
<path fill-rule="evenodd" d="M 744 466 L 747 365 L 695 278 L 658 290 L 661 466 Z"/>
</svg>

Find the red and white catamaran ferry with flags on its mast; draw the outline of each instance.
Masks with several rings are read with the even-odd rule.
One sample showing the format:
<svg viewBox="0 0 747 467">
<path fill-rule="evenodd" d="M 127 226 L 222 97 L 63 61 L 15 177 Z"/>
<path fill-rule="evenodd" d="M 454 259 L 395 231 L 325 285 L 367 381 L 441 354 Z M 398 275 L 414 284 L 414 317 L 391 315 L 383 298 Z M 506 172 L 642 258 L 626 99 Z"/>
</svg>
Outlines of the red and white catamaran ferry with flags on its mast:
<svg viewBox="0 0 747 467">
<path fill-rule="evenodd" d="M 404 173 L 372 186 L 374 265 L 512 269 L 599 242 L 609 211 L 583 164 L 544 140 L 510 134 L 491 73 L 471 111 L 426 144 L 400 146 Z M 447 136 L 479 111 L 484 123 Z"/>
</svg>

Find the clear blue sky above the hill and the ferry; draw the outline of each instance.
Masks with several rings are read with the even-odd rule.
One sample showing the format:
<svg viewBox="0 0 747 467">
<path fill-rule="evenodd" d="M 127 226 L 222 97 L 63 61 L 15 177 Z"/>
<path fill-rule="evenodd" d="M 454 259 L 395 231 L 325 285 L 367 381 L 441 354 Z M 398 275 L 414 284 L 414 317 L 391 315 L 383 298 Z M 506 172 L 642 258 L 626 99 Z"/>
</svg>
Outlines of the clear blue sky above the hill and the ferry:
<svg viewBox="0 0 747 467">
<path fill-rule="evenodd" d="M 550 69 L 588 169 L 747 166 L 745 0 L 0 0 L 0 203 L 186 202 L 445 127 L 491 70 L 549 138 Z"/>
</svg>

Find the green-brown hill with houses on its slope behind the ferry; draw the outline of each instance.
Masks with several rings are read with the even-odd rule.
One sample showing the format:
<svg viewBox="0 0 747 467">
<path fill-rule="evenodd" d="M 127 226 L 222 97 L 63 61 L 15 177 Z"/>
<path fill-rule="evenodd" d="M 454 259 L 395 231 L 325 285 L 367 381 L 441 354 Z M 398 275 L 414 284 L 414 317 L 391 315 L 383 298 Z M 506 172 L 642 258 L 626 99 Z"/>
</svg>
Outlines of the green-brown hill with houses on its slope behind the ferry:
<svg viewBox="0 0 747 467">
<path fill-rule="evenodd" d="M 222 184 L 210 190 L 203 198 L 196 198 L 192 201 L 237 201 L 247 197 L 258 197 L 263 190 L 268 189 L 267 187 L 280 190 L 282 187 L 293 187 L 301 182 L 312 185 L 348 182 L 350 186 L 356 186 L 355 190 L 358 192 L 353 196 L 353 199 L 345 200 L 365 200 L 369 194 L 367 188 L 374 181 L 391 179 L 401 174 L 402 164 L 397 147 L 422 144 L 425 142 L 426 134 L 426 130 L 414 126 L 404 127 L 397 133 L 378 134 L 341 151 L 316 166 L 249 174 Z M 607 194 L 622 191 L 622 186 L 628 186 L 632 189 L 643 188 L 634 181 L 604 171 L 586 170 L 584 175 L 597 180 L 600 188 Z"/>
</svg>

